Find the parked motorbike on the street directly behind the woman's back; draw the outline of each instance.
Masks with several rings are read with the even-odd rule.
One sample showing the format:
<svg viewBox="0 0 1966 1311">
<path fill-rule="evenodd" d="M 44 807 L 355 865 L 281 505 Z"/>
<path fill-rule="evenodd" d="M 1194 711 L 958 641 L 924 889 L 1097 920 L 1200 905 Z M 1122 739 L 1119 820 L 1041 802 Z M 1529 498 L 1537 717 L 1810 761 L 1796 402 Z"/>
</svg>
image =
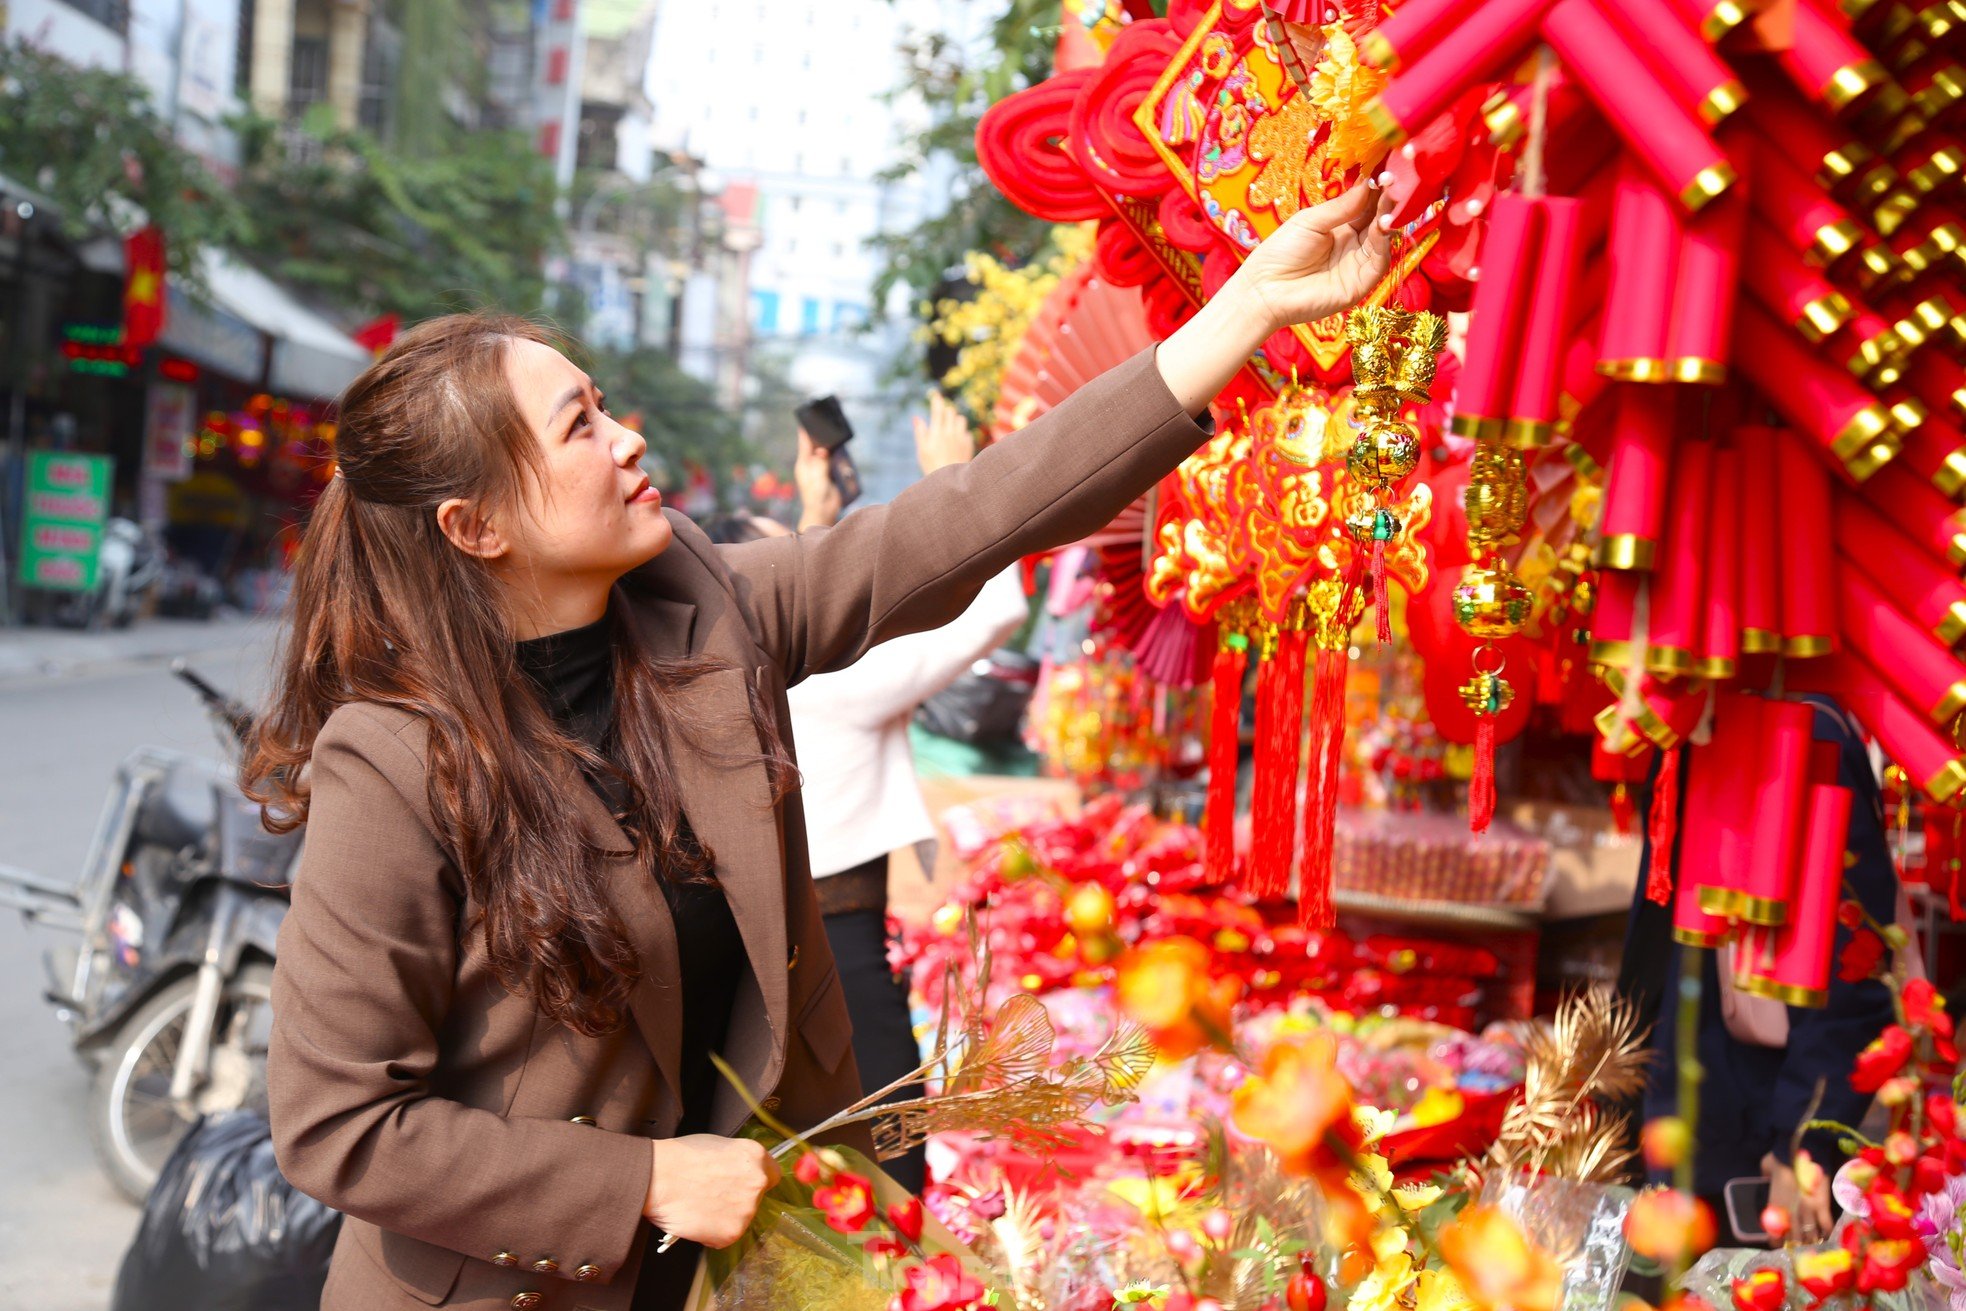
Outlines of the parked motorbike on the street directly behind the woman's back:
<svg viewBox="0 0 1966 1311">
<path fill-rule="evenodd" d="M 206 1112 L 265 1112 L 273 949 L 301 833 L 269 833 L 232 757 L 252 713 L 181 660 L 226 759 L 140 747 L 116 769 L 73 884 L 0 867 L 0 906 L 51 945 L 47 1002 L 92 1067 L 88 1124 L 116 1187 L 142 1201 Z"/>
</svg>

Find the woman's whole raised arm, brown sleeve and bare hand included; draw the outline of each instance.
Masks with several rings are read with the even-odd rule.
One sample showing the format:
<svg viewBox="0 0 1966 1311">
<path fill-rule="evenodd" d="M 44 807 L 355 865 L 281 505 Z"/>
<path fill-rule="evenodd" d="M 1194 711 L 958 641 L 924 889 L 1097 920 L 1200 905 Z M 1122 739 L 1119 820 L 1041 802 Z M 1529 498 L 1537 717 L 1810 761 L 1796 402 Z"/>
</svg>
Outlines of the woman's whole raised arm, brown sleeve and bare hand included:
<svg viewBox="0 0 1966 1311">
<path fill-rule="evenodd" d="M 1197 415 L 1278 328 L 1359 303 L 1386 269 L 1364 185 L 1300 210 L 1158 350 L 1111 370 L 971 464 L 834 529 L 725 546 L 753 635 L 786 682 L 954 619 L 1012 560 L 1105 527 L 1174 472 Z"/>
</svg>

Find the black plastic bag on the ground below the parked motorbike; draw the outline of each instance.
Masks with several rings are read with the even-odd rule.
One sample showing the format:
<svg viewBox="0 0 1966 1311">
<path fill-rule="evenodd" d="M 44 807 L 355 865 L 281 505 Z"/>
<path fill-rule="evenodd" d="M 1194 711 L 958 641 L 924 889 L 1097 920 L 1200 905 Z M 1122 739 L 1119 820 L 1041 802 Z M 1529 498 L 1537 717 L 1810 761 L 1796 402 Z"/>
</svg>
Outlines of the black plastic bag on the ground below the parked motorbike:
<svg viewBox="0 0 1966 1311">
<path fill-rule="evenodd" d="M 263 1114 L 202 1116 L 144 1201 L 110 1311 L 318 1311 L 340 1228 L 281 1177 Z"/>
</svg>

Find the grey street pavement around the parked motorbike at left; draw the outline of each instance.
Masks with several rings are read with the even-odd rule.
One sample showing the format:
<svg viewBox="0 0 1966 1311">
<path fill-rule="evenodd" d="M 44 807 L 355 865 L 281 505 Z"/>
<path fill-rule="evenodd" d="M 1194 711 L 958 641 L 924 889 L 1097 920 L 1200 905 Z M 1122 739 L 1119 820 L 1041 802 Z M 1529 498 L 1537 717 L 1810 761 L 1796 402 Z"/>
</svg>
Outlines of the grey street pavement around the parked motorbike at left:
<svg viewBox="0 0 1966 1311">
<path fill-rule="evenodd" d="M 116 763 L 157 745 L 216 755 L 185 656 L 216 686 L 258 698 L 263 621 L 149 621 L 120 633 L 0 629 L 0 865 L 69 881 Z M 88 1073 L 41 1000 L 57 941 L 0 912 L 0 1307 L 104 1311 L 138 1209 L 96 1168 Z"/>
</svg>

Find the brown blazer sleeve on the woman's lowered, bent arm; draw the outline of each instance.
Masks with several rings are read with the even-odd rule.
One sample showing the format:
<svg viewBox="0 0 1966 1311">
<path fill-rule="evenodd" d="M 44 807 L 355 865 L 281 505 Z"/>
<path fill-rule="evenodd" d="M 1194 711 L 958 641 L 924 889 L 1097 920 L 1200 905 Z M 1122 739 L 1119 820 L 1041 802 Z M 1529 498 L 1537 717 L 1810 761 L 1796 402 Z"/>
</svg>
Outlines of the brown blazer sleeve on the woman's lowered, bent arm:
<svg viewBox="0 0 1966 1311">
<path fill-rule="evenodd" d="M 507 1120 L 433 1091 L 464 898 L 385 769 L 421 786 L 409 743 L 350 710 L 315 745 L 307 847 L 273 969 L 279 1168 L 381 1228 L 478 1260 L 578 1252 L 611 1280 L 641 1225 L 649 1140 Z"/>
</svg>

